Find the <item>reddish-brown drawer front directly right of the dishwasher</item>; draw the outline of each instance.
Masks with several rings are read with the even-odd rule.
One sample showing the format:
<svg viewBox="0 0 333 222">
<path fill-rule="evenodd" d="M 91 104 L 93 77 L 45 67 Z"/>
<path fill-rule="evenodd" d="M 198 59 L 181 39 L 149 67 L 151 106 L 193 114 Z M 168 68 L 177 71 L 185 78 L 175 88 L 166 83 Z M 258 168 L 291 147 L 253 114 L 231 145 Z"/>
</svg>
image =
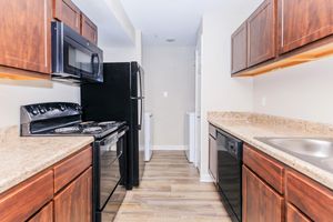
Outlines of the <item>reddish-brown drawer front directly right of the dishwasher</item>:
<svg viewBox="0 0 333 222">
<path fill-rule="evenodd" d="M 248 144 L 244 144 L 243 162 L 269 185 L 274 188 L 280 194 L 283 194 L 284 168 L 282 164 L 271 160 Z"/>
</svg>

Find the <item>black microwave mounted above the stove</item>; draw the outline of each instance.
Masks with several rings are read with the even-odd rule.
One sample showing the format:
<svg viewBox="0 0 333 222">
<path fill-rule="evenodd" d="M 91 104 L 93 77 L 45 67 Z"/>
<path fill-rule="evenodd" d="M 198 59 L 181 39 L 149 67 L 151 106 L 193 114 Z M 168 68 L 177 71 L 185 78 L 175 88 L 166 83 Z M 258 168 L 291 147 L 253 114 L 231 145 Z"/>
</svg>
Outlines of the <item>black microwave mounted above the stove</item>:
<svg viewBox="0 0 333 222">
<path fill-rule="evenodd" d="M 103 51 L 63 22 L 52 22 L 52 79 L 103 82 Z"/>
</svg>

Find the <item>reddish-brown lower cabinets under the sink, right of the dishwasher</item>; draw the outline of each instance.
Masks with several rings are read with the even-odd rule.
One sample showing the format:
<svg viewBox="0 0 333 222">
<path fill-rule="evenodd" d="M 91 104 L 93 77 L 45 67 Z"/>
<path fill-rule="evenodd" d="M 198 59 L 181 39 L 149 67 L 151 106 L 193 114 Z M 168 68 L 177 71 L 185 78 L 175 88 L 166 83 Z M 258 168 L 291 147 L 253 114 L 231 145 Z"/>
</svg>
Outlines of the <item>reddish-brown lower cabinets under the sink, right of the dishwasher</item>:
<svg viewBox="0 0 333 222">
<path fill-rule="evenodd" d="M 243 221 L 333 222 L 332 190 L 249 144 L 243 163 Z"/>
</svg>

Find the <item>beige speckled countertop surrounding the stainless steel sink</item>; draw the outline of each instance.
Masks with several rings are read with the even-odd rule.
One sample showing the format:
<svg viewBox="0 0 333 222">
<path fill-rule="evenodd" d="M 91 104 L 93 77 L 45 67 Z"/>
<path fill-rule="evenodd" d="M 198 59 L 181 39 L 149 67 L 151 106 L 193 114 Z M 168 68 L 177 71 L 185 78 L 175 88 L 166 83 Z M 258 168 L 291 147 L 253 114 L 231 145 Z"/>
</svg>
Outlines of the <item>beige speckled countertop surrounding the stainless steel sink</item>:
<svg viewBox="0 0 333 222">
<path fill-rule="evenodd" d="M 333 125 L 249 112 L 209 112 L 208 121 L 333 190 L 333 169 L 323 170 L 268 145 L 256 137 L 333 138 Z"/>
</svg>

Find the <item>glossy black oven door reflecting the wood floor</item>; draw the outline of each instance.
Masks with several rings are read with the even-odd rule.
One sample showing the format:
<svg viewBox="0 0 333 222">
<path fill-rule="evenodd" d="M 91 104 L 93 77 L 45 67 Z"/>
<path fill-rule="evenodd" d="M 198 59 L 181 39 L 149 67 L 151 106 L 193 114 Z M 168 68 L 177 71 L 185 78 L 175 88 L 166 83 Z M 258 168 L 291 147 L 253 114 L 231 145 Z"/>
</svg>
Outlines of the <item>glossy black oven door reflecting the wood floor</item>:
<svg viewBox="0 0 333 222">
<path fill-rule="evenodd" d="M 117 188 L 120 179 L 120 161 L 122 159 L 122 147 L 117 145 L 118 133 L 103 139 L 99 142 L 99 176 L 97 178 L 99 184 L 98 209 L 102 210 L 108 199 Z"/>
</svg>

